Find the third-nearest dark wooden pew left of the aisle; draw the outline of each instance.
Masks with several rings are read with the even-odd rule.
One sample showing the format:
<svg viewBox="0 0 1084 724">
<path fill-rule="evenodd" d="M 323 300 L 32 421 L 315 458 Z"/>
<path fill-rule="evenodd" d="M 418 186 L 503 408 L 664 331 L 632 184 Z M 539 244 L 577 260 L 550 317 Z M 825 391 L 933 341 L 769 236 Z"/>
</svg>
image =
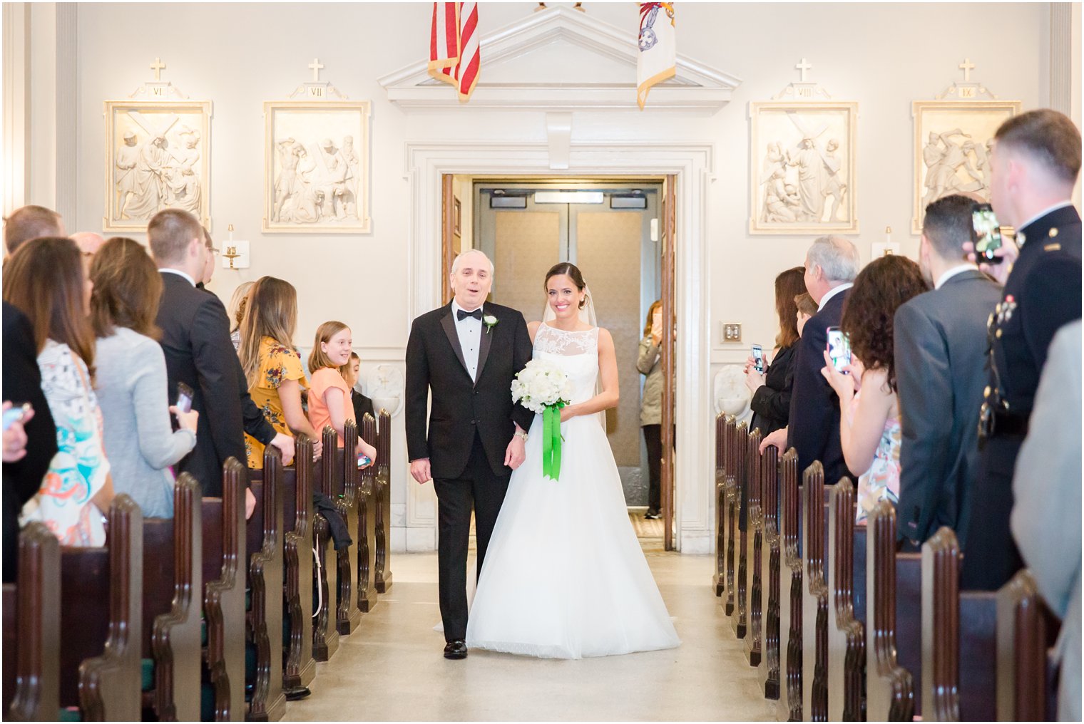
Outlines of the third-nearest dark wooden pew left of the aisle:
<svg viewBox="0 0 1084 724">
<path fill-rule="evenodd" d="M 154 667 L 143 708 L 160 721 L 199 719 L 202 513 L 199 483 L 182 473 L 173 517 L 143 519 L 142 656 Z"/>
</svg>

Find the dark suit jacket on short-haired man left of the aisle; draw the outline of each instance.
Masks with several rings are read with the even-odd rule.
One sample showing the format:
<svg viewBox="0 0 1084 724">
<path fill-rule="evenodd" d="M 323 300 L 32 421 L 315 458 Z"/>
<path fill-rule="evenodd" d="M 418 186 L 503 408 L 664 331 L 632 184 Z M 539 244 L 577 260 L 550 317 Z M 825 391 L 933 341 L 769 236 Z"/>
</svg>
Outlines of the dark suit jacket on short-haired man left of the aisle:
<svg viewBox="0 0 1084 724">
<path fill-rule="evenodd" d="M 169 401 L 176 401 L 177 383 L 182 382 L 192 388 L 192 409 L 199 413 L 196 447 L 178 463 L 177 470 L 195 477 L 205 496 L 217 497 L 222 494 L 227 458 L 236 457 L 242 463 L 248 458 L 246 423 L 260 432 L 256 437 L 261 442 L 270 441 L 274 429 L 248 398 L 221 300 L 178 274 L 164 272 L 162 280 L 162 305 L 155 322 L 162 329 Z M 243 404 L 244 399 L 248 405 Z"/>
</svg>

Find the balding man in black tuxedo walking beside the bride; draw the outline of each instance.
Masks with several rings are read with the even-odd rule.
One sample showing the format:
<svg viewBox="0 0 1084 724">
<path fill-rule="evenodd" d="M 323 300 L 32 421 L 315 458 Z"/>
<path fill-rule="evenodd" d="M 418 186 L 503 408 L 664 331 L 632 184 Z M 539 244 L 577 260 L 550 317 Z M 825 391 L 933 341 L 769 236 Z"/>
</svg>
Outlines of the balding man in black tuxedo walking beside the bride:
<svg viewBox="0 0 1084 724">
<path fill-rule="evenodd" d="M 524 462 L 533 413 L 512 402 L 512 380 L 531 359 L 519 312 L 485 303 L 493 264 L 473 249 L 452 264 L 451 303 L 414 320 L 406 344 L 406 448 L 411 475 L 433 479 L 444 657 L 467 655 L 467 544 L 475 510 L 481 572 L 512 470 Z M 426 399 L 433 409 L 426 432 Z"/>
</svg>

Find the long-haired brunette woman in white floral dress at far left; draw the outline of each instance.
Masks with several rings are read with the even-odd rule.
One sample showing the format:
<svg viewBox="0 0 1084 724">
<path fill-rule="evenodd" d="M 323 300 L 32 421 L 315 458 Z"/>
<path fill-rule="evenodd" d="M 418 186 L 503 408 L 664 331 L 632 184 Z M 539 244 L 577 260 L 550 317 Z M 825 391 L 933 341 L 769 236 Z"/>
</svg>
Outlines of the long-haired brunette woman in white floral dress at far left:
<svg viewBox="0 0 1084 724">
<path fill-rule="evenodd" d="M 23 518 L 44 522 L 62 545 L 104 545 L 102 520 L 114 495 L 94 393 L 90 293 L 82 255 L 70 238 L 23 244 L 4 267 L 3 299 L 30 322 L 41 389 L 56 425 L 57 452 Z"/>
</svg>

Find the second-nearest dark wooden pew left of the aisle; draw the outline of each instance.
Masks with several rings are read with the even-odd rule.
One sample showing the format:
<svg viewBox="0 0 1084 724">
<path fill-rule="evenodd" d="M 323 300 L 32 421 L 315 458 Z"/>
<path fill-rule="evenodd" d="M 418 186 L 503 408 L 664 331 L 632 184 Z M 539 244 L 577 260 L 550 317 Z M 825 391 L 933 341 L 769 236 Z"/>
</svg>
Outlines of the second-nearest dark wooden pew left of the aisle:
<svg viewBox="0 0 1084 724">
<path fill-rule="evenodd" d="M 61 547 L 60 706 L 85 722 L 140 721 L 143 515 L 109 508 L 106 547 Z"/>
</svg>

